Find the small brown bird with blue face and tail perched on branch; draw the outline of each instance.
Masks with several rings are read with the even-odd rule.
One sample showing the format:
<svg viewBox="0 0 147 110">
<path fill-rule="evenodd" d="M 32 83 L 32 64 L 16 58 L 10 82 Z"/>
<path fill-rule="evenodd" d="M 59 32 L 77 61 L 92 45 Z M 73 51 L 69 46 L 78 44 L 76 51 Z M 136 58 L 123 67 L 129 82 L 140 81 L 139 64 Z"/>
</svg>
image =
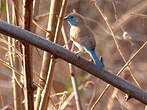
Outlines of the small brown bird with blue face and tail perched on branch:
<svg viewBox="0 0 147 110">
<path fill-rule="evenodd" d="M 96 55 L 96 41 L 91 29 L 86 25 L 84 16 L 73 12 L 64 17 L 70 24 L 70 39 L 80 51 L 86 51 L 99 68 L 104 68 L 103 62 Z"/>
</svg>

